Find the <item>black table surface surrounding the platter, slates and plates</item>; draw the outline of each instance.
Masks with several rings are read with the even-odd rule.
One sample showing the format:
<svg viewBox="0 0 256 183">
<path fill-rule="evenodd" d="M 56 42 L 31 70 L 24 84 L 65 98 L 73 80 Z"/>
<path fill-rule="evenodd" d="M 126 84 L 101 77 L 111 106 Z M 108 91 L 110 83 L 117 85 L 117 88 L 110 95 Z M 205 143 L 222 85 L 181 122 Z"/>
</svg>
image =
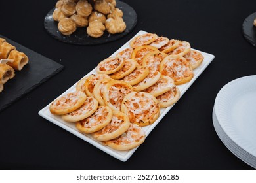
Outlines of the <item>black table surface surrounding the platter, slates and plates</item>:
<svg viewBox="0 0 256 183">
<path fill-rule="evenodd" d="M 0 169 L 253 169 L 224 146 L 213 127 L 219 90 L 256 74 L 256 50 L 242 35 L 255 0 L 123 0 L 138 22 L 127 36 L 94 46 L 57 41 L 44 29 L 56 1 L 1 1 L 0 34 L 65 66 L 0 113 Z M 38 115 L 138 31 L 188 41 L 215 55 L 136 152 L 119 161 Z"/>
</svg>

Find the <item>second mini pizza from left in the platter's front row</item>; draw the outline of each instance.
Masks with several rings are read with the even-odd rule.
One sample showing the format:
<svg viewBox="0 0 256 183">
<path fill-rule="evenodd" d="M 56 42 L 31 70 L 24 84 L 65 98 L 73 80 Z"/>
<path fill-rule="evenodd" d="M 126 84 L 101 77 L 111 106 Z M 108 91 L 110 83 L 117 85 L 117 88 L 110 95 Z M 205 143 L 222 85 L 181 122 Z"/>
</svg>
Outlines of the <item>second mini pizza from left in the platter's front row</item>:
<svg viewBox="0 0 256 183">
<path fill-rule="evenodd" d="M 87 97 L 85 103 L 73 112 L 62 115 L 62 120 L 66 122 L 78 122 L 91 116 L 98 108 L 98 101 L 93 97 Z"/>
</svg>

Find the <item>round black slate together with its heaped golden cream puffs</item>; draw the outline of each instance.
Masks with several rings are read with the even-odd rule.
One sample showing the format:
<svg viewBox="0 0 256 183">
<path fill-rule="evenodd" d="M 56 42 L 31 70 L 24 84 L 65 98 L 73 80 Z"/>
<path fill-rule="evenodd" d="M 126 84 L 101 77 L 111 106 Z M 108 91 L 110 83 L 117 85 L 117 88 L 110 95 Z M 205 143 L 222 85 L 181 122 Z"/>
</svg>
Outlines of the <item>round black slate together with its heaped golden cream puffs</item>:
<svg viewBox="0 0 256 183">
<path fill-rule="evenodd" d="M 129 33 L 137 23 L 135 10 L 118 0 L 59 0 L 45 16 L 45 29 L 62 42 L 102 44 Z"/>
</svg>

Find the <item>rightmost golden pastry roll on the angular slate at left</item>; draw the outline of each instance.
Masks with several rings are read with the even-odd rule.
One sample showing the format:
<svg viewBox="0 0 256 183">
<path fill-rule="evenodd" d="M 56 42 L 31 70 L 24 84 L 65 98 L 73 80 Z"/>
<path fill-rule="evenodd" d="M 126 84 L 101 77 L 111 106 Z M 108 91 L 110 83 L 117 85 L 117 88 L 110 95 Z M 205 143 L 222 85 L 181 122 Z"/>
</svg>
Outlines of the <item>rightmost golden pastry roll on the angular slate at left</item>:
<svg viewBox="0 0 256 183">
<path fill-rule="evenodd" d="M 28 56 L 23 52 L 12 50 L 8 56 L 8 59 L 13 59 L 13 62 L 7 62 L 7 65 L 11 66 L 14 70 L 22 70 L 24 65 L 28 64 Z"/>
</svg>

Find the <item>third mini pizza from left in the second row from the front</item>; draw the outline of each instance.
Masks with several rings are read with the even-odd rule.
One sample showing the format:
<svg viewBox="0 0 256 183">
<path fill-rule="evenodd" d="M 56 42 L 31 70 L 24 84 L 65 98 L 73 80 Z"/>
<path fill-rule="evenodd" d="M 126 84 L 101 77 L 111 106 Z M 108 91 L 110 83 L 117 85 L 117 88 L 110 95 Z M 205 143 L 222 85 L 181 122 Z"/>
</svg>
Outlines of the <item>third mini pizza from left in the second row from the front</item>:
<svg viewBox="0 0 256 183">
<path fill-rule="evenodd" d="M 95 84 L 95 88 L 93 88 L 93 96 L 98 101 L 100 105 L 105 105 L 104 99 L 103 99 L 103 92 L 105 90 L 105 86 L 108 82 L 112 80 L 111 78 L 104 78 L 102 80 L 98 80 Z"/>
</svg>

